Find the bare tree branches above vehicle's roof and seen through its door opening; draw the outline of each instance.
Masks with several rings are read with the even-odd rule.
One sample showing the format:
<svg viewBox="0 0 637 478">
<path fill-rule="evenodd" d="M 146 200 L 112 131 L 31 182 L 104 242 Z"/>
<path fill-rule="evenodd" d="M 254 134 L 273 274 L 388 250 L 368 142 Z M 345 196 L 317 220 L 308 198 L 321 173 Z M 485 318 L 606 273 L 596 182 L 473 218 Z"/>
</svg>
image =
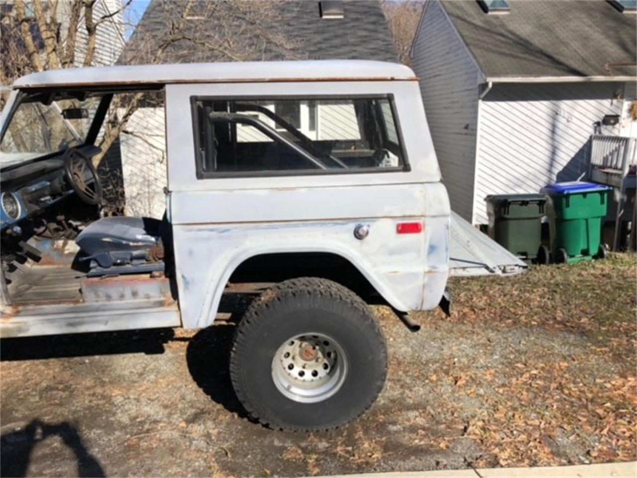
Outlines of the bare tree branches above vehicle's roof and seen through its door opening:
<svg viewBox="0 0 637 478">
<path fill-rule="evenodd" d="M 104 0 L 15 0 L 3 3 L 0 6 L 0 48 L 3 55 L 0 82 L 10 84 L 19 76 L 34 71 L 109 64 L 103 58 L 104 47 L 109 45 L 99 42 L 105 36 L 111 38 L 112 35 L 105 34 L 103 29 L 113 27 L 113 22 L 124 22 L 122 10 L 130 3 L 131 0 L 125 0 L 121 8 L 111 8 L 110 11 L 105 8 Z M 112 4 L 114 2 L 110 3 Z M 124 49 L 121 55 L 118 58 L 111 57 L 110 63 L 159 64 L 302 58 L 298 54 L 298 43 L 282 34 L 282 26 L 285 25 L 282 15 L 289 13 L 292 8 L 299 6 L 282 0 L 154 0 L 147 10 L 147 15 L 152 13 L 148 15 L 152 18 L 142 18 L 141 22 L 134 25 L 131 38 L 126 45 L 122 45 Z M 120 16 L 116 18 L 118 14 Z M 120 28 L 120 33 L 121 30 Z M 121 40 L 124 43 L 123 36 Z M 98 166 L 104 194 L 108 196 L 102 214 L 122 214 L 126 199 L 132 198 L 133 203 L 139 199 L 146 204 L 152 201 L 155 189 L 161 191 L 163 184 L 155 182 L 145 185 L 141 188 L 143 191 L 137 191 L 140 189 L 137 183 L 145 178 L 143 174 L 150 175 L 149 171 L 154 168 L 141 171 L 142 176 L 125 178 L 124 175 L 130 175 L 132 171 L 124 171 L 124 164 L 115 157 L 119 153 L 112 147 L 118 140 L 134 138 L 138 143 L 141 141 L 145 144 L 142 149 L 152 152 L 149 157 L 165 157 L 165 151 L 157 154 L 157 148 L 165 147 L 164 141 L 157 138 L 157 132 L 152 128 L 138 127 L 145 123 L 147 117 L 154 118 L 153 109 L 162 110 L 162 101 L 161 95 L 149 92 L 129 92 L 113 97 L 97 140 L 100 152 L 92 158 Z M 138 111 L 140 113 L 131 121 Z M 34 115 L 32 120 L 40 119 L 38 115 Z M 24 131 L 33 131 L 33 128 L 25 127 Z M 62 133 L 64 131 L 57 136 L 62 137 Z M 38 150 L 35 142 L 42 143 L 42 138 L 37 138 L 37 135 L 13 136 L 15 141 L 24 139 L 34 143 L 31 145 L 31 150 L 34 151 Z M 52 143 L 59 143 L 59 138 L 55 134 L 52 136 L 47 139 Z M 111 161 L 111 158 L 115 161 Z M 129 187 L 131 197 L 124 195 L 125 179 L 132 179 L 135 184 Z M 150 176 L 148 180 L 150 181 Z M 145 196 L 136 198 L 137 193 Z"/>
</svg>

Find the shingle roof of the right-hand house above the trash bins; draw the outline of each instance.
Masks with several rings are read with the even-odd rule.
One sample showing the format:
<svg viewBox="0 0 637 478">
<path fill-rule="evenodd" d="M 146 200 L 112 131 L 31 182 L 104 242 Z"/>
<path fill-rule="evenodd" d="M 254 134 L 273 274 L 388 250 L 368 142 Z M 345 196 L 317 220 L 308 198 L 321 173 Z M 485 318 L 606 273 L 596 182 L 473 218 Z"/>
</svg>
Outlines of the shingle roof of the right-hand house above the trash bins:
<svg viewBox="0 0 637 478">
<path fill-rule="evenodd" d="M 637 15 L 606 1 L 510 1 L 503 15 L 443 1 L 486 76 L 635 76 Z"/>
</svg>

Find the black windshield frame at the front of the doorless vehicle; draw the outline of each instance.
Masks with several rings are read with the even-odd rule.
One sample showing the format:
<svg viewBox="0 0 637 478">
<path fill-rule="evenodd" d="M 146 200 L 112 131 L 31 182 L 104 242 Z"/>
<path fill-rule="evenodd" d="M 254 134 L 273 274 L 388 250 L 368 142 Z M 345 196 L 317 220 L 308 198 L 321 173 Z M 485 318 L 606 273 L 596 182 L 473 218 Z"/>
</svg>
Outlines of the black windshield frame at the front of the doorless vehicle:
<svg viewBox="0 0 637 478">
<path fill-rule="evenodd" d="M 17 112 L 20 105 L 23 105 L 25 103 L 31 103 L 31 101 L 25 101 L 25 100 L 38 97 L 38 96 L 44 96 L 45 94 L 48 93 L 52 97 L 50 98 L 49 104 L 52 104 L 55 101 L 60 101 L 61 99 L 67 99 L 69 97 L 73 98 L 72 95 L 68 94 L 69 92 L 73 92 L 73 91 L 74 90 L 71 90 L 71 89 L 62 90 L 62 91 L 60 90 L 50 91 L 50 90 L 43 90 L 43 89 L 38 89 L 34 91 L 27 91 L 22 89 L 17 90 L 17 94 L 15 95 L 15 98 L 13 99 L 13 103 L 11 104 L 10 109 L 6 113 L 6 117 L 4 117 L 4 114 L 3 114 L 2 129 L 0 131 L 0 143 L 2 143 L 2 141 L 4 140 L 4 135 L 8 131 L 11 121 L 13 121 L 13 118 L 15 117 L 15 113 Z M 88 91 L 86 91 L 86 93 L 87 93 L 87 98 L 89 98 L 89 96 L 98 96 L 100 97 L 100 100 L 99 100 L 99 104 L 97 105 L 97 109 L 93 117 L 93 120 L 90 123 L 89 131 L 84 138 L 84 142 L 80 145 L 73 146 L 73 148 L 85 148 L 88 145 L 95 144 L 95 140 L 97 138 L 97 135 L 99 134 L 99 129 L 101 128 L 103 124 L 104 117 L 106 117 L 106 113 L 108 112 L 108 106 L 110 106 L 111 99 L 113 98 L 113 94 L 108 92 L 104 92 L 102 94 L 99 94 L 99 92 L 97 92 L 97 94 L 94 94 L 94 95 L 91 95 L 90 92 Z M 35 100 L 34 102 L 37 102 L 37 101 L 38 100 Z M 43 102 L 39 101 L 39 103 L 43 103 Z M 50 159 L 55 156 L 62 156 L 62 154 L 68 151 L 68 149 L 70 148 L 57 150 L 54 152 L 43 153 L 39 156 L 25 159 L 24 161 L 20 161 L 18 159 L 17 161 L 11 161 L 10 163 L 6 163 L 6 164 L 0 163 L 0 170 L 9 170 L 18 166 L 24 166 L 25 164 L 35 163 L 36 161 L 43 161 L 45 159 Z"/>
</svg>

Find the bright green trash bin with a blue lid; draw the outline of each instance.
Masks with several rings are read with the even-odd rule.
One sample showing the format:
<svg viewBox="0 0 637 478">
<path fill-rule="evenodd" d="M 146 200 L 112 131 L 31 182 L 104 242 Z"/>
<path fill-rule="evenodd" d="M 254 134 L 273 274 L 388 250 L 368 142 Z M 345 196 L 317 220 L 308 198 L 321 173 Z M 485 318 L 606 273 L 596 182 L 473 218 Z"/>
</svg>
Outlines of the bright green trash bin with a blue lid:
<svg viewBox="0 0 637 478">
<path fill-rule="evenodd" d="M 551 249 L 557 263 L 575 263 L 606 256 L 601 243 L 602 221 L 610 186 L 571 181 L 549 184 Z"/>
</svg>

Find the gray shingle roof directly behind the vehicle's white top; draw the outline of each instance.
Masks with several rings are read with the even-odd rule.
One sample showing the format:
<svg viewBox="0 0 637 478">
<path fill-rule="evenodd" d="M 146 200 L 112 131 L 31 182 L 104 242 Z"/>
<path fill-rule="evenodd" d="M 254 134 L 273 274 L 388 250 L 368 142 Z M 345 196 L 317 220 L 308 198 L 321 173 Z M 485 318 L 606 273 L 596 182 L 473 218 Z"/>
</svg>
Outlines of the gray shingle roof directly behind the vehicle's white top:
<svg viewBox="0 0 637 478">
<path fill-rule="evenodd" d="M 214 3 L 218 4 L 215 5 L 218 9 L 231 8 L 229 3 Z M 145 62 L 143 58 L 140 59 L 140 45 L 144 44 L 144 50 L 152 54 L 154 48 L 148 48 L 148 43 L 161 43 L 166 37 L 169 22 L 174 20 L 175 8 L 184 4 L 186 2 L 154 0 L 141 18 L 138 29 L 120 57 L 120 63 Z M 210 4 L 213 2 L 197 2 L 196 9 L 191 9 L 191 13 L 196 15 L 197 9 L 208 11 Z M 187 28 L 198 40 L 214 40 L 215 36 L 218 40 L 220 34 L 224 38 L 236 34 L 239 41 L 249 46 L 243 48 L 248 50 L 241 54 L 240 59 L 243 61 L 365 59 L 398 62 L 379 1 L 344 1 L 345 16 L 337 19 L 320 18 L 318 1 L 290 0 L 272 2 L 271 5 L 276 9 L 276 15 L 264 18 L 259 27 L 262 31 L 273 33 L 273 36 L 282 36 L 286 42 L 292 43 L 292 48 L 287 45 L 282 47 L 276 40 L 269 41 L 263 34 L 252 34 L 255 31 L 253 25 L 238 17 L 232 17 L 231 24 L 228 24 L 229 15 L 219 14 L 219 10 L 206 15 L 205 20 L 192 20 Z M 222 29 L 225 33 L 220 33 Z M 223 52 L 212 51 L 192 41 L 171 45 L 162 57 L 162 62 L 176 63 L 231 60 Z"/>
</svg>

